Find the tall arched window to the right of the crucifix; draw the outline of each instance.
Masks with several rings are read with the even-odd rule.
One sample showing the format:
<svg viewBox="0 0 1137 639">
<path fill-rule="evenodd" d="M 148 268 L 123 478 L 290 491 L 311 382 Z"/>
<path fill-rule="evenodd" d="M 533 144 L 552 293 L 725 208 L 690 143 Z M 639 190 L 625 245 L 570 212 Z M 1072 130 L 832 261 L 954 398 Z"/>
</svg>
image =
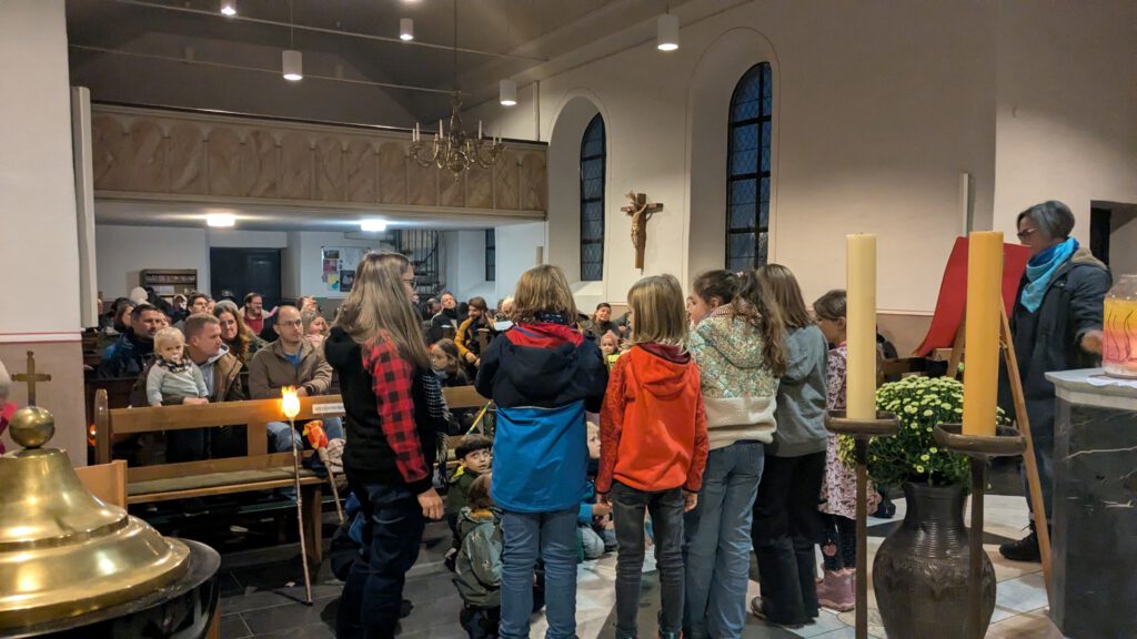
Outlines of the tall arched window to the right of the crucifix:
<svg viewBox="0 0 1137 639">
<path fill-rule="evenodd" d="M 750 67 L 730 98 L 727 151 L 727 268 L 766 263 L 770 229 L 770 64 Z"/>
</svg>

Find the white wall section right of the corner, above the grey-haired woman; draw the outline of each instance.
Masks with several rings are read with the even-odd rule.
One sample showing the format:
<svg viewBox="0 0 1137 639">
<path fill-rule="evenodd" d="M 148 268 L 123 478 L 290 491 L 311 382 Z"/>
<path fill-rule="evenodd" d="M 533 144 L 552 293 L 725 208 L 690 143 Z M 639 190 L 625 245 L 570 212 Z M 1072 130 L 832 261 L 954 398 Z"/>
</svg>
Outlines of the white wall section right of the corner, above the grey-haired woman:
<svg viewBox="0 0 1137 639">
<path fill-rule="evenodd" d="M 1092 200 L 1137 202 L 1137 3 L 999 7 L 995 229 L 1056 199 L 1088 244 Z"/>
</svg>

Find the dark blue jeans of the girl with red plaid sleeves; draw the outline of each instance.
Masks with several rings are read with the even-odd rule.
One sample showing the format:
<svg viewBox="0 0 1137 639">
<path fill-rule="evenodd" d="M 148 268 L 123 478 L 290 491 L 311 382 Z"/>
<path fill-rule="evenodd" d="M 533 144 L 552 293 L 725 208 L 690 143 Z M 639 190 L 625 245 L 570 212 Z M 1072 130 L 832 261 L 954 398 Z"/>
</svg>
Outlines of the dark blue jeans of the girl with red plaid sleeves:
<svg viewBox="0 0 1137 639">
<path fill-rule="evenodd" d="M 418 558 L 426 520 L 418 499 L 404 486 L 363 483 L 352 478 L 348 482 L 362 498 L 363 543 L 340 596 L 335 636 L 389 639 L 395 637 L 402 586 Z"/>
</svg>

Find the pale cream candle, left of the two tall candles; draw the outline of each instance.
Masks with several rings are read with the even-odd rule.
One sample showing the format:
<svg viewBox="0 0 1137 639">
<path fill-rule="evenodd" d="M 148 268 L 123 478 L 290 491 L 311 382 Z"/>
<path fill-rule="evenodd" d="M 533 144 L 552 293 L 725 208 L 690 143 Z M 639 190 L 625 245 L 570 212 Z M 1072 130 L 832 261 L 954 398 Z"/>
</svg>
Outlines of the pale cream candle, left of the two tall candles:
<svg viewBox="0 0 1137 639">
<path fill-rule="evenodd" d="M 846 416 L 877 416 L 877 236 L 846 235 Z"/>
</svg>

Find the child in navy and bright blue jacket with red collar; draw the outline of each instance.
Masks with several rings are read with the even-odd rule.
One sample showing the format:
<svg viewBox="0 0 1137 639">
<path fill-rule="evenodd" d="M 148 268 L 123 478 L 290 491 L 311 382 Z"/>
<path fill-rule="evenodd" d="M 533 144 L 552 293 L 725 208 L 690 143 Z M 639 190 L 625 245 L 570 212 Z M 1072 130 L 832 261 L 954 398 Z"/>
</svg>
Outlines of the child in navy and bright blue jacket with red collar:
<svg viewBox="0 0 1137 639">
<path fill-rule="evenodd" d="M 528 638 L 533 570 L 545 559 L 546 637 L 576 632 L 576 516 L 584 493 L 584 410 L 599 410 L 607 383 L 596 343 L 573 327 L 576 304 L 564 273 L 534 266 L 517 281 L 515 325 L 482 354 L 475 385 L 497 406 L 493 501 L 505 555 L 501 637 Z"/>
</svg>

